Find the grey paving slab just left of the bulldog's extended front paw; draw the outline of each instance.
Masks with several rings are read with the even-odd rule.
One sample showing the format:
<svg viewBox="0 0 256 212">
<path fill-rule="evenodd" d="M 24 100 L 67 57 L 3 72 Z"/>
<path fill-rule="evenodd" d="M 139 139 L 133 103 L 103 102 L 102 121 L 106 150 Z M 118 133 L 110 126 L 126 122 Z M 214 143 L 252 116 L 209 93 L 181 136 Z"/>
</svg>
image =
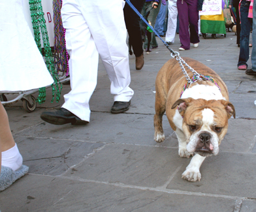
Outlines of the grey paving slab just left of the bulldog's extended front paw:
<svg viewBox="0 0 256 212">
<path fill-rule="evenodd" d="M 176 149 L 109 144 L 65 176 L 156 188 L 180 165 Z"/>
</svg>

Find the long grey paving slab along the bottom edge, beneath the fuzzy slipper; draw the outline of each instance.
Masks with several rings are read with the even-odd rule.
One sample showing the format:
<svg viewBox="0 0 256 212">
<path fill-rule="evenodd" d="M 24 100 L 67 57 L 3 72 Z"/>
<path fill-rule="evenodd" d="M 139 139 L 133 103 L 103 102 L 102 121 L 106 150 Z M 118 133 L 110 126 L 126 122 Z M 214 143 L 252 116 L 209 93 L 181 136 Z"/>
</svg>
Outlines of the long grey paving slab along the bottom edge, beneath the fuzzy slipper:
<svg viewBox="0 0 256 212">
<path fill-rule="evenodd" d="M 38 183 L 38 181 L 40 183 Z M 30 185 L 28 188 L 28 185 Z M 12 198 L 8 198 L 12 195 Z M 29 175 L 0 193 L 2 211 L 120 212 L 205 211 L 232 212 L 236 201 L 221 197 L 175 195 L 141 187 L 115 186 L 50 176 Z"/>
</svg>

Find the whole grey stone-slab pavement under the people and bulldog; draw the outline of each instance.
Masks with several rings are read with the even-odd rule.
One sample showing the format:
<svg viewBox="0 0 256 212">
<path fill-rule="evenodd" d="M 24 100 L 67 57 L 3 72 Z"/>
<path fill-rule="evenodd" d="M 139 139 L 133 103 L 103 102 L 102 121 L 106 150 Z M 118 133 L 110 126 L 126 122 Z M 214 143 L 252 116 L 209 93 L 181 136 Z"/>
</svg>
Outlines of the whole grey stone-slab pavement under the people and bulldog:
<svg viewBox="0 0 256 212">
<path fill-rule="evenodd" d="M 44 110 L 63 104 L 63 98 L 50 103 L 51 89 L 47 103 L 35 112 L 26 112 L 21 101 L 6 107 L 29 174 L 0 193 L 2 212 L 256 211 L 256 78 L 237 70 L 235 34 L 201 37 L 197 49 L 179 52 L 215 70 L 236 107 L 237 118 L 229 120 L 220 153 L 205 160 L 202 179 L 195 183 L 181 178 L 190 159 L 178 155 L 177 138 L 166 116 L 166 140 L 157 144 L 153 139 L 155 79 L 171 58 L 157 40 L 159 48 L 144 54 L 142 70 L 135 70 L 135 57 L 130 56 L 134 97 L 124 114 L 109 112 L 113 96 L 101 62 L 87 126 L 55 126 L 40 119 Z M 172 49 L 179 46 L 177 35 Z M 62 95 L 69 90 L 63 86 Z"/>
</svg>

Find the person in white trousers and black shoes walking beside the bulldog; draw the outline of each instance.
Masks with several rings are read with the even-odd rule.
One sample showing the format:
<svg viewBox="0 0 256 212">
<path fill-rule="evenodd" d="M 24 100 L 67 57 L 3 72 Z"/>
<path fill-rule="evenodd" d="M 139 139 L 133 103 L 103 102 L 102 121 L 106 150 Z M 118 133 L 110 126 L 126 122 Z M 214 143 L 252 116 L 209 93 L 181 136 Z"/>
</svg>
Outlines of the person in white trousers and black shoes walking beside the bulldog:
<svg viewBox="0 0 256 212">
<path fill-rule="evenodd" d="M 99 55 L 111 81 L 112 113 L 129 109 L 132 89 L 124 1 L 63 0 L 61 18 L 70 55 L 71 91 L 60 110 L 41 118 L 54 125 L 84 125 L 90 121 L 89 101 L 97 84 Z"/>
</svg>

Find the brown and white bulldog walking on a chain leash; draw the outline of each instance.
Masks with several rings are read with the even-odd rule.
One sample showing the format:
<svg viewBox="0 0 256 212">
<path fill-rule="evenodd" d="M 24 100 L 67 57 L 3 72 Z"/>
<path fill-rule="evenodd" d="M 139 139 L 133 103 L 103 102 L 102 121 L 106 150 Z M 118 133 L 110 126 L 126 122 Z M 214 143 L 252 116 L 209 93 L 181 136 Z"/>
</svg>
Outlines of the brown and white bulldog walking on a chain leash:
<svg viewBox="0 0 256 212">
<path fill-rule="evenodd" d="M 207 156 L 218 154 L 221 140 L 227 133 L 228 119 L 231 116 L 236 118 L 236 112 L 228 102 L 228 89 L 220 76 L 194 59 L 183 59 L 203 75 L 204 80 L 188 84 L 177 59 L 164 64 L 156 77 L 154 140 L 163 142 L 165 139 L 162 120 L 166 112 L 179 141 L 179 155 L 193 156 L 182 178 L 200 181 L 202 162 Z M 187 72 L 191 79 L 194 73 Z"/>
</svg>

